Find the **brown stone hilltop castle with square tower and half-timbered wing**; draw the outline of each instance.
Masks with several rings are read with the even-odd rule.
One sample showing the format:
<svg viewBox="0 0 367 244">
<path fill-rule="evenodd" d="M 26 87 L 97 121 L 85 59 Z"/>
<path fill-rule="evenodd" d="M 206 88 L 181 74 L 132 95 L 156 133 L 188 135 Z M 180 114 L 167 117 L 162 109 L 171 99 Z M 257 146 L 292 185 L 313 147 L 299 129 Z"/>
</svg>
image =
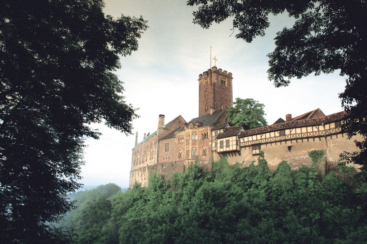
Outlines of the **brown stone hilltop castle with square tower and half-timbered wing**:
<svg viewBox="0 0 367 244">
<path fill-rule="evenodd" d="M 165 124 L 159 115 L 157 131 L 144 134 L 132 149 L 129 187 L 135 182 L 146 186 L 149 174 L 158 171 L 170 178 L 175 172 L 199 158 L 199 165 L 211 168 L 211 161 L 226 156 L 228 162 L 244 166 L 256 162 L 260 150 L 265 152 L 270 169 L 287 160 L 292 169 L 312 164 L 308 152 L 326 150 L 324 172 L 332 170 L 344 151 L 356 151 L 353 140 L 341 131 L 345 112 L 325 116 L 320 109 L 274 124 L 244 130 L 230 126 L 226 109 L 232 106 L 232 73 L 212 67 L 199 75 L 199 117 L 186 122 L 178 116 Z"/>
</svg>

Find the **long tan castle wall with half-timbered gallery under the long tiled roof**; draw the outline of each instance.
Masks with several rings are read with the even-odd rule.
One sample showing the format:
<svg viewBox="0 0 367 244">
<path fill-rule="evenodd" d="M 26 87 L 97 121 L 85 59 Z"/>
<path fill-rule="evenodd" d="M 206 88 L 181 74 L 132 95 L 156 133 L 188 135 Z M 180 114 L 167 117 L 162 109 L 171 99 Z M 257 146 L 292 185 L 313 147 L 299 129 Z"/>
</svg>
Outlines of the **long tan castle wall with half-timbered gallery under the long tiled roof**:
<svg viewBox="0 0 367 244">
<path fill-rule="evenodd" d="M 230 164 L 239 162 L 244 166 L 249 166 L 252 162 L 257 164 L 258 151 L 262 150 L 270 169 L 275 170 L 283 160 L 288 161 L 292 169 L 297 169 L 312 165 L 308 152 L 326 150 L 322 167 L 323 171 L 327 171 L 336 167 L 340 153 L 357 150 L 354 138 L 347 139 L 340 126 L 339 121 L 241 137 L 240 154 L 229 156 L 228 162 Z M 221 155 L 213 153 L 214 160 L 219 160 Z"/>
</svg>

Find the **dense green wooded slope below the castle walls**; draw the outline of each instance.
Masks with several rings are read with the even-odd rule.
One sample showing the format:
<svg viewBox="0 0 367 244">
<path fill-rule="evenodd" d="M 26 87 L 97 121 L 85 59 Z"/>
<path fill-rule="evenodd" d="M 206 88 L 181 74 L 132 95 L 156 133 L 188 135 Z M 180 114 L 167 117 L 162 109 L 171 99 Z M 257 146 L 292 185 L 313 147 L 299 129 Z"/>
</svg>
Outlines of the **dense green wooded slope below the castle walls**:
<svg viewBox="0 0 367 244">
<path fill-rule="evenodd" d="M 210 172 L 192 164 L 170 182 L 153 174 L 147 188 L 108 192 L 79 202 L 72 243 L 367 242 L 366 183 L 345 166 L 323 176 L 222 158 Z"/>
</svg>

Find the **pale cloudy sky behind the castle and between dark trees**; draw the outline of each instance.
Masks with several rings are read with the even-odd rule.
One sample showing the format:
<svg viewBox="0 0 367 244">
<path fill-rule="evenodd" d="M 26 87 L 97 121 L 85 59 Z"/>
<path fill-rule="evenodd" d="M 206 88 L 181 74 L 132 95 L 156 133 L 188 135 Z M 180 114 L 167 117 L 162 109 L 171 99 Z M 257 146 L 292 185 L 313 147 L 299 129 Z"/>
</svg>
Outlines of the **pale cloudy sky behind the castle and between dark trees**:
<svg viewBox="0 0 367 244">
<path fill-rule="evenodd" d="M 342 111 L 338 94 L 344 91 L 345 77 L 333 74 L 309 75 L 292 79 L 287 87 L 275 88 L 268 80 L 268 58 L 273 51 L 276 32 L 291 27 L 287 14 L 270 16 L 265 37 L 252 43 L 236 39 L 232 20 L 203 29 L 192 22 L 196 7 L 185 0 L 106 0 L 104 13 L 148 20 L 148 30 L 139 39 L 131 56 L 121 57 L 116 72 L 123 86 L 126 103 L 138 108 L 133 134 L 125 135 L 103 124 L 93 125 L 102 132 L 99 140 L 88 138 L 81 169 L 84 185 L 115 183 L 127 188 L 131 168 L 131 149 L 144 133 L 157 130 L 159 114 L 169 122 L 181 115 L 186 121 L 198 117 L 199 74 L 214 66 L 233 75 L 233 99 L 252 98 L 265 105 L 268 124 L 320 108 L 324 114 Z M 232 34 L 232 35 L 231 35 Z M 211 56 L 210 56 L 211 47 Z M 210 60 L 212 61 L 210 63 Z"/>
</svg>

